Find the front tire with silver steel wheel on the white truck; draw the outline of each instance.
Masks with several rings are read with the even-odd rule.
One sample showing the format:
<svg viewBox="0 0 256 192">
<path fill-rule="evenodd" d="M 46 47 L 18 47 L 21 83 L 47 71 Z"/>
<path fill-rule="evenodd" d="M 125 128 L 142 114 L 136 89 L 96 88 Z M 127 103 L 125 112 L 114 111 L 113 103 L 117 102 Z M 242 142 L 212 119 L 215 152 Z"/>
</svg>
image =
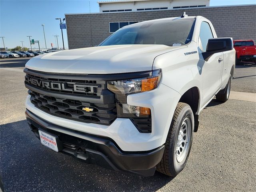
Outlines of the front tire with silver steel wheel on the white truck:
<svg viewBox="0 0 256 192">
<path fill-rule="evenodd" d="M 186 136 L 185 140 L 184 136 L 180 134 L 182 130 Z M 166 139 L 164 155 L 156 166 L 158 172 L 174 177 L 184 169 L 192 146 L 193 132 L 194 115 L 192 109 L 188 104 L 179 102 Z M 179 146 L 180 148 L 183 147 L 184 150 L 181 151 Z"/>
</svg>

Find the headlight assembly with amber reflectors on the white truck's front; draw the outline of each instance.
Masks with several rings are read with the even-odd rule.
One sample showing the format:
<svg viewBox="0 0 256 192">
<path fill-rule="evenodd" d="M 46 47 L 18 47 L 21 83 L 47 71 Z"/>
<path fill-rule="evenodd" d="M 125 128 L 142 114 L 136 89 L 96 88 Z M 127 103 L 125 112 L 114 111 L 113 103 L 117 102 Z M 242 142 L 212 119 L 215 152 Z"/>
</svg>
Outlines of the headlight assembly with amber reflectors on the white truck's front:
<svg viewBox="0 0 256 192">
<path fill-rule="evenodd" d="M 127 95 L 146 92 L 157 88 L 161 80 L 161 70 L 152 71 L 152 75 L 120 81 L 109 81 L 108 89 L 116 94 L 118 118 L 130 118 L 139 132 L 151 132 L 151 110 L 142 106 L 127 104 Z"/>
</svg>

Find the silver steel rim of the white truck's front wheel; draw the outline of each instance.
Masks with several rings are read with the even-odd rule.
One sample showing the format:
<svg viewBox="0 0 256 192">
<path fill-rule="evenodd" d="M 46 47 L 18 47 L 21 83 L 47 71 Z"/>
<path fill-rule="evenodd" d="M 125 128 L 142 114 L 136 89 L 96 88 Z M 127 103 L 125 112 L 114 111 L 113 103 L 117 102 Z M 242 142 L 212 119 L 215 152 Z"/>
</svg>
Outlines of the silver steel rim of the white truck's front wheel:
<svg viewBox="0 0 256 192">
<path fill-rule="evenodd" d="M 176 159 L 180 163 L 186 158 L 191 135 L 191 122 L 185 118 L 180 126 L 176 142 Z"/>
</svg>

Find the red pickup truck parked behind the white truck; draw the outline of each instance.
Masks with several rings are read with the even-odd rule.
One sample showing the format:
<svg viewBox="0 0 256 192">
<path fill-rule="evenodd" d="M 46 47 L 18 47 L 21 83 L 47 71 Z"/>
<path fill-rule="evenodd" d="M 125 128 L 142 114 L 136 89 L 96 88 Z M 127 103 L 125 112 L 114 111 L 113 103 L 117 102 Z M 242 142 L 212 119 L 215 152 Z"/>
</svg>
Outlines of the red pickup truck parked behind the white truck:
<svg viewBox="0 0 256 192">
<path fill-rule="evenodd" d="M 234 40 L 236 64 L 253 62 L 256 64 L 256 45 L 253 40 Z"/>
</svg>

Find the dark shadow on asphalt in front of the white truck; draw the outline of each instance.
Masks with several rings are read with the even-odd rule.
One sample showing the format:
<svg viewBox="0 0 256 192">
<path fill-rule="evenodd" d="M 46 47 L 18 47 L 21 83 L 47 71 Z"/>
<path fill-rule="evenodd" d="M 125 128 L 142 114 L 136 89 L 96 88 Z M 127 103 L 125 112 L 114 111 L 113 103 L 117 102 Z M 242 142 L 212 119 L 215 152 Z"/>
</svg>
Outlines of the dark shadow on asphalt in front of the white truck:
<svg viewBox="0 0 256 192">
<path fill-rule="evenodd" d="M 0 125 L 0 138 L 6 191 L 156 191 L 173 179 L 107 170 L 54 152 L 41 145 L 26 120 Z"/>
</svg>

